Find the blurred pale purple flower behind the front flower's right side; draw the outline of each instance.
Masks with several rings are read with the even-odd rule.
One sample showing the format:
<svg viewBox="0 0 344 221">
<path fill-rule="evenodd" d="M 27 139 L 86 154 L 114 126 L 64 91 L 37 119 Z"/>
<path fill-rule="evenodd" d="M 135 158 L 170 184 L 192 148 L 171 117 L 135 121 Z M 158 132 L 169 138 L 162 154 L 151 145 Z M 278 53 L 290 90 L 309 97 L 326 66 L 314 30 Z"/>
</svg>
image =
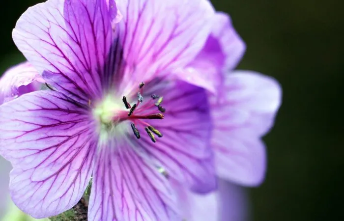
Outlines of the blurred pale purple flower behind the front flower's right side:
<svg viewBox="0 0 344 221">
<path fill-rule="evenodd" d="M 233 71 L 245 52 L 245 44 L 228 15 L 217 13 L 212 21 L 212 32 L 203 50 L 187 69 L 208 76 L 213 85 L 197 82 L 216 93 L 208 96 L 213 121 L 211 146 L 220 185 L 218 192 L 208 195 L 180 188 L 179 200 L 188 221 L 242 221 L 246 218 L 235 213 L 244 208 L 236 207 L 242 198 L 228 194 L 238 187 L 231 187 L 227 181 L 248 187 L 263 181 L 266 153 L 261 137 L 273 126 L 282 92 L 279 83 L 270 77 Z M 202 208 L 207 208 L 206 214 Z"/>
</svg>

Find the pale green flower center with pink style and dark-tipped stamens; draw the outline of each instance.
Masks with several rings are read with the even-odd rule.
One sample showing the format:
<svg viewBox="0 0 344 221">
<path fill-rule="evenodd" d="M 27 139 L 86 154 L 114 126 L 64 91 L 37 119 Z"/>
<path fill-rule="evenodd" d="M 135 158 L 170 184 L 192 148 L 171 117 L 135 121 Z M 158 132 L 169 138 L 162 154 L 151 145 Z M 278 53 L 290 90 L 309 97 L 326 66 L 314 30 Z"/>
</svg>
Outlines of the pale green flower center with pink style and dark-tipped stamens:
<svg viewBox="0 0 344 221">
<path fill-rule="evenodd" d="M 120 126 L 122 122 L 129 121 L 132 133 L 136 138 L 140 139 L 141 134 L 139 128 L 142 128 L 153 142 L 156 142 L 155 136 L 161 138 L 163 135 L 155 129 L 152 125 L 147 123 L 150 119 L 164 119 L 165 109 L 161 106 L 163 97 L 159 95 L 151 95 L 149 101 L 143 102 L 143 86 L 140 83 L 137 99 L 132 99 L 135 102 L 130 104 L 126 96 L 123 96 L 121 101 L 119 98 L 109 95 L 103 102 L 95 107 L 93 116 L 100 123 L 100 133 L 102 137 L 108 138 L 111 135 L 117 135 L 118 132 L 123 132 Z"/>
</svg>

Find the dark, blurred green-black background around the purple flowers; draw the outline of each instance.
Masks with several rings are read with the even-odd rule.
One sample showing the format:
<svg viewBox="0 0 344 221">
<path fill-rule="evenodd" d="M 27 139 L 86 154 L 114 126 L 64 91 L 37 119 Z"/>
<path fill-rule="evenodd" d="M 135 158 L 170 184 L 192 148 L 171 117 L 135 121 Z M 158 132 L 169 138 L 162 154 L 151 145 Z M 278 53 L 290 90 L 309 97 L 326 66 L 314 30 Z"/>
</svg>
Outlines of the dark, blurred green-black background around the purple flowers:
<svg viewBox="0 0 344 221">
<path fill-rule="evenodd" d="M 0 73 L 24 59 L 11 31 L 19 16 L 37 2 L 1 2 Z M 252 220 L 343 221 L 344 4 L 337 0 L 212 2 L 231 15 L 247 44 L 239 68 L 275 77 L 284 91 L 276 126 L 265 137 L 266 181 L 249 190 Z"/>
</svg>

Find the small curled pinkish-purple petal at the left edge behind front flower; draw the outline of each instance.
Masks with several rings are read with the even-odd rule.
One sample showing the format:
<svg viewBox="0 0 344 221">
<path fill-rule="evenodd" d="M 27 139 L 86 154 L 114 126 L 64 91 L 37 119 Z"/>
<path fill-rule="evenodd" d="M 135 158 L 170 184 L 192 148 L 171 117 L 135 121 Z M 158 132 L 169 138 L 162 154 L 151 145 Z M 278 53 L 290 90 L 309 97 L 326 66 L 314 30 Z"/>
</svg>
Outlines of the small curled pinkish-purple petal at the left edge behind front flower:
<svg viewBox="0 0 344 221">
<path fill-rule="evenodd" d="M 0 79 L 0 105 L 22 94 L 39 90 L 41 83 L 44 80 L 29 62 L 9 68 Z"/>
</svg>

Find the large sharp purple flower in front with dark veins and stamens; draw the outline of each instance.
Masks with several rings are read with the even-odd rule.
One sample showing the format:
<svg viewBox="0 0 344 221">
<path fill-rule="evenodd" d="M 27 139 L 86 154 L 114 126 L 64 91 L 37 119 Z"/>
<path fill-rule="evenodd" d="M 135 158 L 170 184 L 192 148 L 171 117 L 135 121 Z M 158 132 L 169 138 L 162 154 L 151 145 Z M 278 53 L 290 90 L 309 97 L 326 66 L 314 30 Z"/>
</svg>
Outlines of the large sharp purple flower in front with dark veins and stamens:
<svg viewBox="0 0 344 221">
<path fill-rule="evenodd" d="M 0 106 L 0 154 L 13 166 L 15 204 L 35 218 L 57 215 L 92 177 L 89 220 L 170 221 L 182 219 L 170 181 L 214 190 L 212 121 L 199 85 L 218 82 L 197 71 L 182 81 L 213 16 L 205 0 L 30 7 L 13 39 L 48 88 L 21 95 L 14 82 L 2 95 L 21 95 Z"/>
</svg>

